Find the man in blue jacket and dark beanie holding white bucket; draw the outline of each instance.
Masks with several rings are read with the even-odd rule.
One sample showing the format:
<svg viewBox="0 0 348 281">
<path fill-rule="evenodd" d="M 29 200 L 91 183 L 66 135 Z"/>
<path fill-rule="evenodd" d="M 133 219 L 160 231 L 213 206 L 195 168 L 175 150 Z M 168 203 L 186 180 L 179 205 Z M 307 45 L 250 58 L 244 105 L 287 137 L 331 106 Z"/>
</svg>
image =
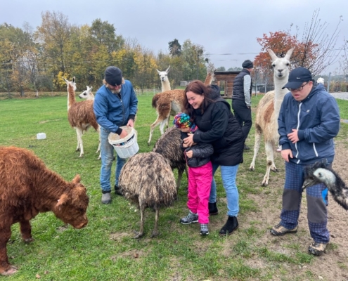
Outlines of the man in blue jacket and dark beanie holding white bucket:
<svg viewBox="0 0 348 281">
<path fill-rule="evenodd" d="M 94 114 L 101 126 L 101 202 L 111 202 L 110 175 L 114 148 L 108 141 L 109 133 L 117 133 L 120 138 L 125 138 L 127 132 L 121 126 L 134 127 L 134 119 L 138 107 L 138 99 L 130 81 L 124 80 L 122 71 L 115 66 L 105 70 L 103 86 L 96 92 L 94 98 Z M 122 195 L 118 188 L 118 177 L 126 159 L 117 155 L 115 171 L 115 193 Z"/>
</svg>

